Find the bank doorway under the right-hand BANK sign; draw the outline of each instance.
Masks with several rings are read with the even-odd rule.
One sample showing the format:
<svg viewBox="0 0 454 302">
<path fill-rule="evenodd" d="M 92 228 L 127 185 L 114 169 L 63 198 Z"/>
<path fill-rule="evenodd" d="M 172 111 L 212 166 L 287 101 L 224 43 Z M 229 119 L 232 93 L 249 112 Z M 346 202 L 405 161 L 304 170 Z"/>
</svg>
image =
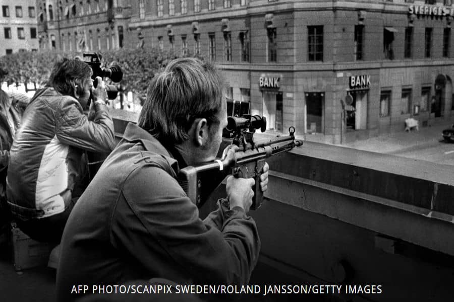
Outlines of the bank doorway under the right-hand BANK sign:
<svg viewBox="0 0 454 302">
<path fill-rule="evenodd" d="M 367 92 L 368 90 L 353 90 L 351 105 L 346 105 L 347 130 L 366 129 L 367 127 Z"/>
</svg>

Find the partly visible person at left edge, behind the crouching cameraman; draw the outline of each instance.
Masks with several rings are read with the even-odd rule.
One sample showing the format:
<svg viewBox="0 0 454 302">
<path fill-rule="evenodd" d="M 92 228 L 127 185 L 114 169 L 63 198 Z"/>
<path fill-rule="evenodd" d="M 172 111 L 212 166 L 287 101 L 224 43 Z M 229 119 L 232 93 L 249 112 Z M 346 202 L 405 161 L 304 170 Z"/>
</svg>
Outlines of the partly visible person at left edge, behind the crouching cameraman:
<svg viewBox="0 0 454 302">
<path fill-rule="evenodd" d="M 0 86 L 8 71 L 0 68 Z M 24 93 L 0 90 L 0 234 L 8 229 L 10 210 L 6 196 L 6 179 L 10 148 L 30 99 Z"/>
</svg>

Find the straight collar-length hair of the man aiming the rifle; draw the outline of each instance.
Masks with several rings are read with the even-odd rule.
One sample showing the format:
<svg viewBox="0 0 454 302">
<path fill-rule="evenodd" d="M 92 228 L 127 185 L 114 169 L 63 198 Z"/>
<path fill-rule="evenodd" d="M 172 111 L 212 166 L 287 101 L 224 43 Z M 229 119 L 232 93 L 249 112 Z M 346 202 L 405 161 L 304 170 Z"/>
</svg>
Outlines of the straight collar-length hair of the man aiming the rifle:
<svg viewBox="0 0 454 302">
<path fill-rule="evenodd" d="M 164 144 L 188 139 L 196 118 L 218 125 L 225 82 L 210 62 L 180 58 L 168 63 L 150 83 L 138 125 Z"/>
</svg>

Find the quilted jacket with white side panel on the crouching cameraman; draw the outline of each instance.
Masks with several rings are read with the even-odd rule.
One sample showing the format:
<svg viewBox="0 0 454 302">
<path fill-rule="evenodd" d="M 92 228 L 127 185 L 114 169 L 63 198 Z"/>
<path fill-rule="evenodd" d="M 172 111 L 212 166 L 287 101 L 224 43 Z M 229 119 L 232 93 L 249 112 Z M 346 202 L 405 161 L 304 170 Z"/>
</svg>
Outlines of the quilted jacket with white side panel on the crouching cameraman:
<svg viewBox="0 0 454 302">
<path fill-rule="evenodd" d="M 8 204 L 23 220 L 59 214 L 71 204 L 84 150 L 109 153 L 113 122 L 105 105 L 93 121 L 79 101 L 53 88 L 38 90 L 27 106 L 10 151 Z"/>
</svg>

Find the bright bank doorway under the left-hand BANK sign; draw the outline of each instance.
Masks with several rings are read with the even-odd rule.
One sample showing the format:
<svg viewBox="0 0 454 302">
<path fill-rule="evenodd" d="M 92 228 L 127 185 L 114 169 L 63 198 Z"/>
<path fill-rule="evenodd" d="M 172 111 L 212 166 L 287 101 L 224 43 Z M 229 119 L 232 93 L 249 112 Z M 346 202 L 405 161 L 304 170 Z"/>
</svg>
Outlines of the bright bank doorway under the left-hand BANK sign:
<svg viewBox="0 0 454 302">
<path fill-rule="evenodd" d="M 262 115 L 266 117 L 266 128 L 282 131 L 283 122 L 282 92 L 262 92 Z"/>
</svg>

